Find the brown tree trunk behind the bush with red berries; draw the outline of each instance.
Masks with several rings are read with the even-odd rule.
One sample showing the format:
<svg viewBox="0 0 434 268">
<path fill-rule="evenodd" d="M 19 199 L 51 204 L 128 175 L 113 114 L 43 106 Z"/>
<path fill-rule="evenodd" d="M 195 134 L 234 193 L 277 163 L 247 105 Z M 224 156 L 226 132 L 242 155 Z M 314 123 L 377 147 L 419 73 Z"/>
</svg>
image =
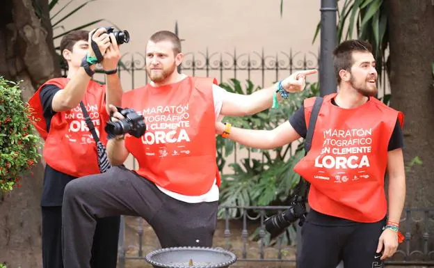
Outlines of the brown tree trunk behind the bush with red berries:
<svg viewBox="0 0 434 268">
<path fill-rule="evenodd" d="M 22 80 L 24 101 L 47 79 L 59 76 L 48 0 L 3 0 L 0 8 L 0 75 Z M 22 187 L 0 199 L 0 263 L 42 267 L 40 195 L 44 168 L 22 178 Z"/>
</svg>

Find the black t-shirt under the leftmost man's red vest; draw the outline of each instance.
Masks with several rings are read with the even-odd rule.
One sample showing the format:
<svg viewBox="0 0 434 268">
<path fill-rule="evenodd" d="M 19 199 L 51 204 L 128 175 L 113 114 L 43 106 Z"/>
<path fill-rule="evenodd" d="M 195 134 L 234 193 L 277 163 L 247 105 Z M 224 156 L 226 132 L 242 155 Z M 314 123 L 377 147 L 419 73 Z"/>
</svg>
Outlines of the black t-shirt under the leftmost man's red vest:
<svg viewBox="0 0 434 268">
<path fill-rule="evenodd" d="M 51 107 L 53 102 L 54 94 L 61 88 L 54 85 L 46 85 L 42 88 L 39 93 L 42 109 L 44 111 L 44 118 L 47 121 L 47 131 L 49 131 L 49 126 L 51 123 L 51 118 L 56 114 Z M 48 164 L 45 166 L 44 173 L 44 185 L 42 187 L 42 207 L 54 207 L 61 206 L 63 201 L 63 191 L 65 191 L 65 186 L 75 177 L 67 175 L 60 171 L 56 171 L 51 168 Z"/>
</svg>

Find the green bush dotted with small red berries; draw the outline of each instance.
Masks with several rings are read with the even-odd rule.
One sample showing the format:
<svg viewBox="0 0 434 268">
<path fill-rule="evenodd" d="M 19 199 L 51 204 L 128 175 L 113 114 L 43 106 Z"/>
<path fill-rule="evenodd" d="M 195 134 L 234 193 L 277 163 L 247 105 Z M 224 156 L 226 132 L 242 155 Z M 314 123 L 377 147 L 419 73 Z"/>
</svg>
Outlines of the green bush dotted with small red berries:
<svg viewBox="0 0 434 268">
<path fill-rule="evenodd" d="M 0 77 L 0 194 L 20 187 L 21 176 L 40 157 L 29 115 L 19 83 Z"/>
</svg>

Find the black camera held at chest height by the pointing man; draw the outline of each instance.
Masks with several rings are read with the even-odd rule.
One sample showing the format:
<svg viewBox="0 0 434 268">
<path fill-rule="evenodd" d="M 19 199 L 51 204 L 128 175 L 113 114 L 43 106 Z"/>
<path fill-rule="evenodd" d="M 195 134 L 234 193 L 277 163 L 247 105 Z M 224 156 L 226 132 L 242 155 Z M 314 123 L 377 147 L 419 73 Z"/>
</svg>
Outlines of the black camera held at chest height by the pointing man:
<svg viewBox="0 0 434 268">
<path fill-rule="evenodd" d="M 136 138 L 145 134 L 146 124 L 143 116 L 134 111 L 134 109 L 118 108 L 118 111 L 124 116 L 124 119 L 107 123 L 105 130 L 109 134 L 109 139 L 126 133 Z"/>
</svg>

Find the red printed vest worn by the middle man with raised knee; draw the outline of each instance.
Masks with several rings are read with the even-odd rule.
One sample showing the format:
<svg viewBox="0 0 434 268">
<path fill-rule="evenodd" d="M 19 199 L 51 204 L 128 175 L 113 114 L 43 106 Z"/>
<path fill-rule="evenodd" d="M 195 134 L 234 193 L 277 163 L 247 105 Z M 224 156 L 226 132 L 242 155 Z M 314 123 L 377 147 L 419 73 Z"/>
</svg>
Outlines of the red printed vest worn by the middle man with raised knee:
<svg viewBox="0 0 434 268">
<path fill-rule="evenodd" d="M 207 193 L 217 179 L 213 79 L 186 77 L 157 88 L 124 93 L 122 107 L 140 111 L 147 131 L 126 135 L 125 145 L 138 160 L 137 173 L 186 196 Z"/>
</svg>

